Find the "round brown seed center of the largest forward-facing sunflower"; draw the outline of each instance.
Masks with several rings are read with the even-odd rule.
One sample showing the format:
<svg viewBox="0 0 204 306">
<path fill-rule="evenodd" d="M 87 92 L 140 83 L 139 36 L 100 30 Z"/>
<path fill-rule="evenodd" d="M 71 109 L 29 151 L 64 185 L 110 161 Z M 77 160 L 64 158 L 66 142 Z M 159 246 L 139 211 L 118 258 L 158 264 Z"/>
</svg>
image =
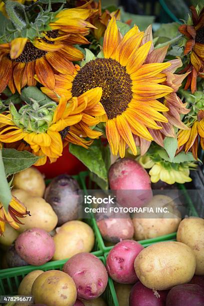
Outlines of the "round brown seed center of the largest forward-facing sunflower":
<svg viewBox="0 0 204 306">
<path fill-rule="evenodd" d="M 132 99 L 132 81 L 126 68 L 112 58 L 96 58 L 87 62 L 72 82 L 72 95 L 102 87 L 102 103 L 108 119 L 122 114 Z"/>
</svg>

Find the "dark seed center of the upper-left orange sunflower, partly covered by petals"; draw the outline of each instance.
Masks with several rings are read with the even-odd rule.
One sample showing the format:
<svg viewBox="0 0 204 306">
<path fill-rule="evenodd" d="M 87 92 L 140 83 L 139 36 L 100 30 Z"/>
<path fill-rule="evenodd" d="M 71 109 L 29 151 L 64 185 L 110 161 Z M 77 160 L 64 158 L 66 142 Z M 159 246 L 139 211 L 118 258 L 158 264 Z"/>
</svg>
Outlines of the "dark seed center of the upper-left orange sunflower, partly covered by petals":
<svg viewBox="0 0 204 306">
<path fill-rule="evenodd" d="M 49 38 L 56 38 L 58 36 L 58 30 L 52 30 L 52 31 L 48 31 L 46 33 L 46 36 L 48 36 Z M 46 43 L 49 44 L 53 44 L 54 42 L 51 40 L 46 39 L 45 37 L 42 38 Z M 40 50 L 38 48 L 36 48 L 31 42 L 26 42 L 24 49 L 22 51 L 22 53 L 20 54 L 20 56 L 18 56 L 17 58 L 15 58 L 13 61 L 16 62 L 30 62 L 30 61 L 34 61 L 37 58 L 41 58 L 42 56 L 44 56 L 47 53 L 47 51 L 43 51 Z M 10 56 L 8 55 L 8 58 L 10 59 Z"/>
</svg>

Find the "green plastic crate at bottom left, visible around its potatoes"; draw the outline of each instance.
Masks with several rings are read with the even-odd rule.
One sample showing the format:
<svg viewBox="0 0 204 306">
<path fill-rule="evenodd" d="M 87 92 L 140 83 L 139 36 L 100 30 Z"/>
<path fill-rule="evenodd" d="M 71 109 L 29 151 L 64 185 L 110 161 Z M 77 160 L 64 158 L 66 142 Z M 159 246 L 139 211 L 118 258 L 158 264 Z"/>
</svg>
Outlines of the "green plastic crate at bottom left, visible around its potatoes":
<svg viewBox="0 0 204 306">
<path fill-rule="evenodd" d="M 98 255 L 98 252 L 92 252 L 96 255 L 105 265 L 105 258 Z M 17 288 L 22 278 L 33 270 L 61 270 L 67 259 L 55 260 L 47 262 L 40 266 L 27 265 L 17 268 L 5 269 L 3 273 L 0 273 L 0 295 L 15 295 L 17 294 Z M 116 294 L 114 292 L 114 285 L 112 279 L 108 277 L 107 287 L 103 293 L 103 298 L 106 300 L 108 306 L 118 306 Z M 115 293 L 115 292 L 114 292 Z"/>
</svg>

